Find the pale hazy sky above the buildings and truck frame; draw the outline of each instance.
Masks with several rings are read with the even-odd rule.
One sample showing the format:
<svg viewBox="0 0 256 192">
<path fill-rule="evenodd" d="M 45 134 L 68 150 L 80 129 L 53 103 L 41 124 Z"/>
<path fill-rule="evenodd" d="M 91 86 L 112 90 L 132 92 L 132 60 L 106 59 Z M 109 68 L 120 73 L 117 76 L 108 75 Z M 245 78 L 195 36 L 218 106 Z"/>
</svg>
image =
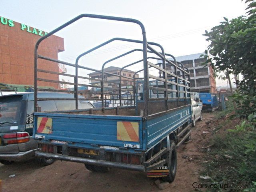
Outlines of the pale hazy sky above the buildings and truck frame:
<svg viewBox="0 0 256 192">
<path fill-rule="evenodd" d="M 161 44 L 166 53 L 174 56 L 204 52 L 209 44 L 202 36 L 205 30 L 218 25 L 224 16 L 231 19 L 246 15 L 246 6 L 241 0 L 1 0 L 0 6 L 0 16 L 46 32 L 84 13 L 134 18 L 144 24 L 148 42 Z M 65 51 L 59 53 L 59 60 L 70 63 L 74 63 L 79 54 L 114 37 L 142 40 L 136 24 L 92 18 L 82 18 L 55 35 L 64 38 Z M 83 57 L 79 64 L 101 69 L 105 61 L 134 48 L 142 46 L 113 42 Z M 135 52 L 108 66 L 122 67 L 140 59 L 142 52 Z M 128 69 L 141 68 L 142 63 Z M 73 68 L 67 67 L 67 70 L 74 74 Z M 226 81 L 216 79 L 216 82 L 217 86 L 226 86 Z"/>
</svg>

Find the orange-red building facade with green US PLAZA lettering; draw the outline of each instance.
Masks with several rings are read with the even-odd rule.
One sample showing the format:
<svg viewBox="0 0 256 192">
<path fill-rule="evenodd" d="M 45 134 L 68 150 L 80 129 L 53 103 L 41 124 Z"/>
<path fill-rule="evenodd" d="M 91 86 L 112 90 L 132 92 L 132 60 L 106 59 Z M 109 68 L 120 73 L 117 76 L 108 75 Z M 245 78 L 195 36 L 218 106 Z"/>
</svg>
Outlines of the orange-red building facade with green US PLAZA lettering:
<svg viewBox="0 0 256 192">
<path fill-rule="evenodd" d="M 34 85 L 34 46 L 47 32 L 26 24 L 0 17 L 0 83 Z M 58 52 L 64 51 L 64 39 L 50 36 L 38 49 L 42 56 L 58 59 Z M 38 60 L 38 68 L 59 72 L 58 63 Z M 38 73 L 39 78 L 59 80 L 55 74 Z M 59 84 L 40 82 L 39 86 L 59 88 Z"/>
</svg>

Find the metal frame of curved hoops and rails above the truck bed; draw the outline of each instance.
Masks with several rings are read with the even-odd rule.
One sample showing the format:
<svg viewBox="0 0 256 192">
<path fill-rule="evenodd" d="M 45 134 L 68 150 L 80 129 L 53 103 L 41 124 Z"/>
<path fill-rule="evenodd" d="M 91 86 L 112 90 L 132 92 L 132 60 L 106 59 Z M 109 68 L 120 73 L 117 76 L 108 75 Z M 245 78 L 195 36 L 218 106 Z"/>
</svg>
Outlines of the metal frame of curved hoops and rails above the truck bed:
<svg viewBox="0 0 256 192">
<path fill-rule="evenodd" d="M 38 47 L 39 47 L 40 43 L 41 43 L 44 39 L 48 38 L 48 37 L 51 36 L 52 34 L 58 32 L 59 30 L 65 28 L 66 26 L 72 24 L 72 23 L 75 22 L 76 20 L 79 20 L 80 18 L 83 18 L 83 17 L 99 18 L 99 19 L 105 19 L 105 20 L 117 20 L 117 21 L 122 21 L 122 22 L 132 22 L 132 23 L 138 24 L 138 25 L 140 26 L 141 30 L 142 30 L 142 41 L 141 41 L 141 40 L 126 39 L 126 38 L 112 38 L 112 39 L 110 39 L 110 40 L 108 40 L 108 41 L 106 41 L 106 42 L 104 42 L 104 43 L 102 43 L 102 44 L 100 44 L 100 45 L 98 45 L 98 46 L 96 46 L 96 47 L 94 47 L 94 48 L 92 48 L 92 49 L 90 49 L 90 50 L 88 50 L 88 51 L 82 53 L 82 54 L 80 54 L 80 55 L 76 58 L 75 64 L 71 64 L 71 63 L 68 63 L 68 62 L 64 62 L 64 61 L 60 61 L 60 60 L 55 60 L 55 59 L 52 59 L 52 58 L 47 58 L 47 57 L 45 57 L 45 56 L 40 56 L 40 55 L 38 55 Z M 84 67 L 84 66 L 78 65 L 78 61 L 79 61 L 79 59 L 80 59 L 82 56 L 84 56 L 84 55 L 86 55 L 86 54 L 88 54 L 88 53 L 90 53 L 90 52 L 92 52 L 92 51 L 94 51 L 94 50 L 96 50 L 96 49 L 98 49 L 98 48 L 100 48 L 100 47 L 106 45 L 106 44 L 109 44 L 110 42 L 113 42 L 113 41 L 115 41 L 115 40 L 125 41 L 125 42 L 140 43 L 140 44 L 142 44 L 143 49 L 131 50 L 131 51 L 129 51 L 129 52 L 127 52 L 127 53 L 124 53 L 124 54 L 122 54 L 122 55 L 120 55 L 120 56 L 116 56 L 115 58 L 112 58 L 112 59 L 110 59 L 110 60 L 104 62 L 104 64 L 102 65 L 102 69 L 101 69 L 101 70 L 95 70 L 95 69 L 92 69 L 92 68 L 88 68 L 88 67 Z M 157 51 L 152 47 L 152 45 L 153 45 L 153 46 L 158 46 L 158 47 L 161 49 L 161 52 L 157 52 Z M 126 66 L 124 66 L 123 68 L 121 68 L 121 70 L 120 70 L 120 75 L 112 74 L 112 73 L 109 73 L 109 72 L 104 72 L 104 66 L 105 66 L 107 63 L 109 63 L 109 62 L 111 62 L 111 61 L 113 61 L 113 60 L 116 60 L 116 59 L 118 59 L 118 58 L 120 58 L 120 57 L 122 57 L 122 56 L 128 55 L 128 54 L 130 54 L 130 53 L 132 53 L 132 52 L 135 52 L 135 51 L 142 51 L 142 52 L 143 52 L 143 59 L 142 59 L 142 60 L 139 60 L 139 61 L 137 61 L 137 62 L 134 62 L 134 63 L 132 63 L 132 64 L 126 65 Z M 101 80 L 101 86 L 91 85 L 91 87 L 98 87 L 98 88 L 101 89 L 101 96 L 102 96 L 102 97 L 101 97 L 101 100 L 102 100 L 102 103 L 103 103 L 103 102 L 104 102 L 104 95 L 103 95 L 103 94 L 104 94 L 104 93 L 103 93 L 103 92 L 104 92 L 104 74 L 111 74 L 111 75 L 113 75 L 113 76 L 118 76 L 118 77 L 119 77 L 119 80 L 120 80 L 120 83 L 119 83 L 119 88 L 120 88 L 120 89 L 119 89 L 119 93 L 122 94 L 122 89 L 121 89 L 121 88 L 122 88 L 122 86 L 121 86 L 122 77 L 133 80 L 133 81 L 134 81 L 134 89 L 135 89 L 135 79 L 136 79 L 135 76 L 136 76 L 136 74 L 139 72 L 139 71 L 136 72 L 136 74 L 134 74 L 133 78 L 130 78 L 130 77 L 122 76 L 122 70 L 123 70 L 125 67 L 131 66 L 131 65 L 133 65 L 133 64 L 136 64 L 136 63 L 138 63 L 138 62 L 142 62 L 142 61 L 143 61 L 143 69 L 140 70 L 140 71 L 143 71 L 143 72 L 144 72 L 144 77 L 143 77 L 143 79 L 144 79 L 144 80 L 143 80 L 143 81 L 144 81 L 144 86 L 143 86 L 143 92 L 144 92 L 144 115 L 143 115 L 143 116 L 144 116 L 144 118 L 146 118 L 146 117 L 148 116 L 148 103 L 149 103 L 149 101 L 152 101 L 151 99 L 149 99 L 149 89 L 150 89 L 150 90 L 151 90 L 151 89 L 155 89 L 155 90 L 162 90 L 162 91 L 164 91 L 165 100 L 166 100 L 165 102 L 168 102 L 168 91 L 177 92 L 177 93 L 178 93 L 178 100 L 179 100 L 179 86 L 182 86 L 182 84 L 179 85 L 179 79 L 184 80 L 184 84 L 185 84 L 184 87 L 185 87 L 185 91 L 186 91 L 186 74 L 189 75 L 189 70 L 186 68 L 186 70 L 188 70 L 188 72 L 187 72 L 187 71 L 185 70 L 185 68 L 184 68 L 184 66 L 183 66 L 182 63 L 176 62 L 176 59 L 174 58 L 174 56 L 172 56 L 172 55 L 170 55 L 170 54 L 165 54 L 164 48 L 163 48 L 160 44 L 157 44 L 157 43 L 154 43 L 154 42 L 147 42 L 147 40 L 146 40 L 146 31 L 145 31 L 145 28 L 144 28 L 143 24 L 142 24 L 140 21 L 138 21 L 138 20 L 134 20 L 134 19 L 130 19 L 130 18 L 112 17 L 112 16 L 101 16 L 101 15 L 93 15 L 93 14 L 81 14 L 81 15 L 77 16 L 76 18 L 70 20 L 69 22 L 66 22 L 66 23 L 63 24 L 62 26 L 56 28 L 56 29 L 53 30 L 52 32 L 48 33 L 46 36 L 43 36 L 42 38 L 40 38 L 40 39 L 36 42 L 34 52 L 35 52 L 35 57 L 34 57 L 34 66 L 35 66 L 35 68 L 34 68 L 34 88 L 35 88 L 35 90 L 34 90 L 34 108 L 35 108 L 35 112 L 38 112 L 37 100 L 42 100 L 42 99 L 45 99 L 45 100 L 46 100 L 46 98 L 42 98 L 42 99 L 41 99 L 41 98 L 40 98 L 40 99 L 37 98 L 37 92 L 38 92 L 38 90 L 43 90 L 43 89 L 40 89 L 40 88 L 38 89 L 37 81 L 46 81 L 46 82 L 52 82 L 52 83 L 61 83 L 61 81 L 57 81 L 57 80 L 47 80 L 47 79 L 38 78 L 37 72 L 45 72 L 45 73 L 51 73 L 51 74 L 57 74 L 57 75 L 59 75 L 58 72 L 51 72 L 51 71 L 46 71 L 46 70 L 38 69 L 38 61 L 37 61 L 38 59 L 44 59 L 44 60 L 48 60 L 48 61 L 52 61 L 52 62 L 57 62 L 57 63 L 62 63 L 62 64 L 65 64 L 65 65 L 69 65 L 69 66 L 75 67 L 75 71 L 76 71 L 76 74 L 75 74 L 75 75 L 63 74 L 64 76 L 69 76 L 69 77 L 73 77 L 73 78 L 74 78 L 74 83 L 71 83 L 71 82 L 69 82 L 69 83 L 68 83 L 68 82 L 64 82 L 64 84 L 72 84 L 72 85 L 74 85 L 74 90 L 52 90 L 52 91 L 70 92 L 70 93 L 72 92 L 72 93 L 74 93 L 74 99 L 68 99 L 68 100 L 75 100 L 76 109 L 78 109 L 78 100 L 82 100 L 82 99 L 80 99 L 80 98 L 78 99 L 78 92 L 80 92 L 80 91 L 78 91 L 78 85 L 79 85 L 79 86 L 80 86 L 80 85 L 82 85 L 82 86 L 89 86 L 89 85 L 86 85 L 86 84 L 78 84 L 78 78 L 84 78 L 84 79 L 93 80 L 93 78 L 88 78 L 88 77 L 85 77 L 85 76 L 78 76 L 78 68 L 82 68 L 82 69 L 86 69 L 86 70 L 92 70 L 92 71 L 94 71 L 94 72 L 99 72 L 99 73 L 102 74 L 102 77 L 101 77 L 101 79 L 102 79 L 102 80 Z M 155 54 L 155 55 L 158 56 L 159 58 L 157 58 L 157 57 L 147 57 L 147 53 L 148 53 L 148 52 Z M 170 60 L 166 60 L 166 56 L 171 56 L 172 58 L 174 58 L 174 62 L 172 62 L 172 61 L 170 61 Z M 162 60 L 162 66 L 158 66 L 158 64 L 152 64 L 152 63 L 148 62 L 147 60 L 148 60 L 149 58 L 151 58 L 151 59 L 156 59 L 156 60 Z M 180 66 L 178 66 L 177 63 L 178 63 L 179 65 L 181 65 L 182 68 L 180 68 Z M 174 68 L 175 68 L 175 74 L 172 73 L 172 72 L 168 72 L 168 71 L 166 70 L 166 65 L 174 66 Z M 160 73 L 160 76 L 159 76 L 159 77 L 149 74 L 148 68 L 150 68 L 150 67 L 154 67 L 154 68 L 156 68 L 156 69 L 162 71 L 162 72 L 163 72 L 163 76 L 162 76 L 162 73 Z M 184 78 L 181 78 L 181 76 L 178 76 L 177 70 L 181 70 L 181 71 L 183 72 Z M 177 85 L 177 90 L 170 90 L 170 89 L 168 89 L 168 83 L 169 83 L 169 84 L 174 84 L 174 82 L 171 82 L 170 80 L 168 80 L 167 74 L 170 74 L 170 75 L 173 76 L 174 78 L 176 77 L 176 81 L 177 81 L 177 83 L 176 83 L 176 85 Z M 164 88 L 154 88 L 153 86 L 150 86 L 150 87 L 149 87 L 149 78 L 162 81 L 163 84 L 164 84 Z M 110 81 L 110 82 L 111 82 L 111 81 Z M 116 83 L 116 82 L 115 82 L 115 83 Z M 118 84 L 118 83 L 116 83 L 116 84 Z M 44 90 L 46 90 L 46 89 L 44 89 Z M 112 90 L 114 90 L 114 89 L 112 89 Z M 115 90 L 115 91 L 116 91 L 116 90 Z M 184 92 L 184 91 L 182 91 L 182 92 Z M 134 93 L 135 93 L 135 91 L 134 91 Z M 119 95 L 120 95 L 120 94 L 119 94 Z M 48 98 L 48 100 L 50 100 L 50 99 L 51 99 L 51 98 Z M 120 96 L 120 99 L 121 99 L 121 96 Z M 135 99 L 135 97 L 134 97 L 134 99 Z M 177 100 L 177 102 L 178 102 L 178 100 Z M 164 99 L 163 99 L 163 101 L 164 101 Z M 135 103 L 135 102 L 134 102 L 134 103 Z M 122 104 L 122 101 L 120 102 L 120 104 Z M 166 104 L 166 108 L 168 109 L 168 104 Z"/>
</svg>

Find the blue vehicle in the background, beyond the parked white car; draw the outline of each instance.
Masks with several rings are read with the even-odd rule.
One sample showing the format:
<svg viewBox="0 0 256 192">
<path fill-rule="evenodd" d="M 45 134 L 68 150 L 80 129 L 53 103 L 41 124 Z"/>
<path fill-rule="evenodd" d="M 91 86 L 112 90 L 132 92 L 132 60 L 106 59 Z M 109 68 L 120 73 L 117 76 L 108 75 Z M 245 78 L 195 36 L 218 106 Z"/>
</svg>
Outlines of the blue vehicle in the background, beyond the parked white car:
<svg viewBox="0 0 256 192">
<path fill-rule="evenodd" d="M 218 98 L 214 93 L 200 93 L 200 100 L 203 103 L 203 110 L 212 111 L 218 108 Z"/>
</svg>

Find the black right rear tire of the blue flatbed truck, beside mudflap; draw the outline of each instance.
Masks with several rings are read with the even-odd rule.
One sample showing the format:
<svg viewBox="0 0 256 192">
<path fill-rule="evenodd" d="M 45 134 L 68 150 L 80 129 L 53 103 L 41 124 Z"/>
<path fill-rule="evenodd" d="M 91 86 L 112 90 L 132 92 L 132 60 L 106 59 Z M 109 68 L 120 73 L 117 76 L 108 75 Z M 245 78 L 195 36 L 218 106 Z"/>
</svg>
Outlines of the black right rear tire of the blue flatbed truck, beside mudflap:
<svg viewBox="0 0 256 192">
<path fill-rule="evenodd" d="M 170 140 L 170 150 L 167 152 L 167 160 L 169 174 L 162 179 L 167 182 L 173 182 L 177 171 L 177 150 L 173 140 Z"/>
</svg>

